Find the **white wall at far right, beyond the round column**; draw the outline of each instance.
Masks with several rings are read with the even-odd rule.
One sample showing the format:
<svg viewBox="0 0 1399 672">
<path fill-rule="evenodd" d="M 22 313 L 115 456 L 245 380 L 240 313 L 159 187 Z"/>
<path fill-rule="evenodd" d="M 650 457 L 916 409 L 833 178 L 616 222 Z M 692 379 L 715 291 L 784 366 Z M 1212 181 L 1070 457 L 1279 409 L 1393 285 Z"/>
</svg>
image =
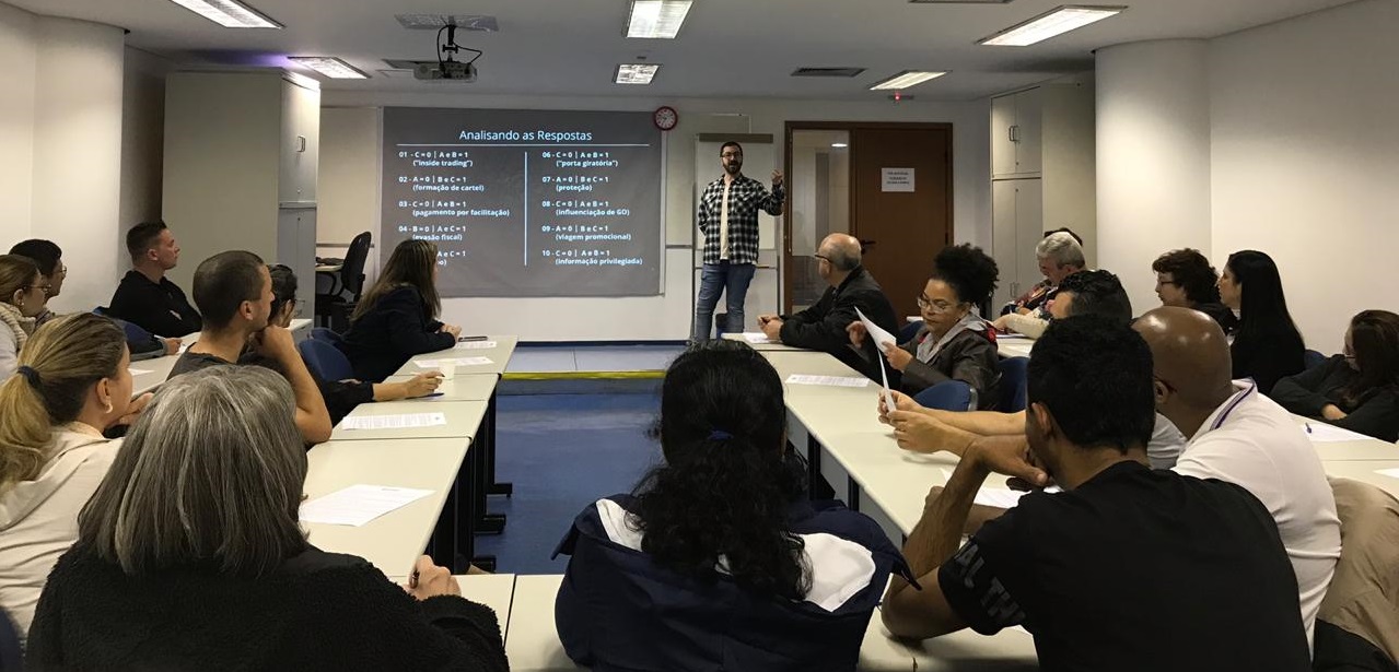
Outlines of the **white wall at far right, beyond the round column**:
<svg viewBox="0 0 1399 672">
<path fill-rule="evenodd" d="M 1307 345 L 1399 312 L 1399 3 L 1370 0 L 1210 48 L 1213 260 L 1269 253 Z"/>
</svg>

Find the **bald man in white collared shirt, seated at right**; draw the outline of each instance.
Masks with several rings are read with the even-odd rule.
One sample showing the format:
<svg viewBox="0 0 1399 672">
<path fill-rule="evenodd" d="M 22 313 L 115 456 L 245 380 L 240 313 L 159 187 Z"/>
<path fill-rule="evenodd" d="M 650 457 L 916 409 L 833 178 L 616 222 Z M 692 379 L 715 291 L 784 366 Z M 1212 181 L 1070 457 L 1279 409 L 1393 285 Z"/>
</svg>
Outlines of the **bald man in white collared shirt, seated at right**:
<svg viewBox="0 0 1399 672">
<path fill-rule="evenodd" d="M 1133 328 L 1151 348 L 1157 411 L 1189 439 L 1174 471 L 1241 485 L 1263 503 L 1293 562 L 1311 643 L 1340 557 L 1336 500 L 1316 450 L 1252 381 L 1230 380 L 1228 342 L 1205 313 L 1158 307 Z"/>
</svg>

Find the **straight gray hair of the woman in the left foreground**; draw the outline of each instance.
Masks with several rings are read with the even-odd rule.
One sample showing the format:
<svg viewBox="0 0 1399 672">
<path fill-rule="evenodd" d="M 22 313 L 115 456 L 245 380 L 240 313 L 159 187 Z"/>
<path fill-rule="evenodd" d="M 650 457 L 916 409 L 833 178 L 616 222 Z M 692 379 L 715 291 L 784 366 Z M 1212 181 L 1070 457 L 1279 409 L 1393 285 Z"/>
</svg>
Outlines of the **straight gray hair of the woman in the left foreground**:
<svg viewBox="0 0 1399 672">
<path fill-rule="evenodd" d="M 130 576 L 193 563 L 276 570 L 306 549 L 295 408 L 291 386 L 260 366 L 169 380 L 83 507 L 78 541 Z"/>
</svg>

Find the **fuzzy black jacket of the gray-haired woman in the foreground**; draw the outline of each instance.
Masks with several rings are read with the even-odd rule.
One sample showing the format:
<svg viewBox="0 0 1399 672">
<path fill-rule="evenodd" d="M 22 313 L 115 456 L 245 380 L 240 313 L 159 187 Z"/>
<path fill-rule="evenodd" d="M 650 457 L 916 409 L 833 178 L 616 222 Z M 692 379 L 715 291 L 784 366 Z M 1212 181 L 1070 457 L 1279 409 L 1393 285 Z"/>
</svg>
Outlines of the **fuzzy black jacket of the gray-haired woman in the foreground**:
<svg viewBox="0 0 1399 672">
<path fill-rule="evenodd" d="M 129 577 L 74 546 L 29 627 L 31 671 L 505 671 L 490 608 L 418 602 L 360 557 L 309 549 L 264 578 Z"/>
</svg>

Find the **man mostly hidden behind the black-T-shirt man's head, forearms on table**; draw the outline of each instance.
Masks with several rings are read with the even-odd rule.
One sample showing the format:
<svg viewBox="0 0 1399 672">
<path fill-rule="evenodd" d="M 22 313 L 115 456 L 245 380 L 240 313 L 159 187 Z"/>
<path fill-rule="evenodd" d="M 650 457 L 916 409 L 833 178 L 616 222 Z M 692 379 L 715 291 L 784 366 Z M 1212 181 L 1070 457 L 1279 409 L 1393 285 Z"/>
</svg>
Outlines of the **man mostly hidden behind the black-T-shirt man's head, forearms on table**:
<svg viewBox="0 0 1399 672">
<path fill-rule="evenodd" d="M 1108 271 L 1079 271 L 1059 285 L 1049 306 L 1056 320 L 1065 317 L 1098 316 L 1114 324 L 1132 321 L 1132 302 L 1122 282 Z M 995 411 L 951 412 L 923 408 L 911 397 L 894 393 L 898 411 L 880 419 L 894 425 L 898 446 L 919 453 L 946 450 L 963 454 L 981 436 L 1024 436 L 1025 414 Z M 1185 437 L 1160 414 L 1146 451 L 1151 467 L 1170 469 L 1185 446 Z"/>
</svg>

